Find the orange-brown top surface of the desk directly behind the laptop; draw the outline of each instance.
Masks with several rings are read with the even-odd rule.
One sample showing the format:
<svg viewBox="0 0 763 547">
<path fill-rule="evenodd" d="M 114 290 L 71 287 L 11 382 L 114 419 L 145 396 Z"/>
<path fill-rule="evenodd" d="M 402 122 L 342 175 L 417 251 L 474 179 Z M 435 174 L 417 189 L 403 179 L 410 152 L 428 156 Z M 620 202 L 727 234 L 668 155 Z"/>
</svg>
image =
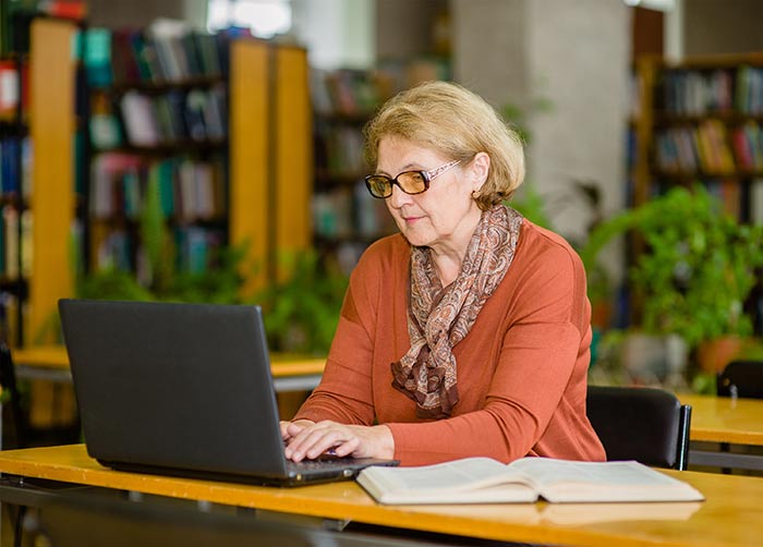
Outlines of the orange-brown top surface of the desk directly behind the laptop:
<svg viewBox="0 0 763 547">
<path fill-rule="evenodd" d="M 271 355 L 270 367 L 274 378 L 289 376 L 320 375 L 326 364 L 325 358 L 296 355 Z M 13 362 L 35 368 L 69 370 L 69 355 L 62 345 L 39 345 L 13 350 Z"/>
</svg>

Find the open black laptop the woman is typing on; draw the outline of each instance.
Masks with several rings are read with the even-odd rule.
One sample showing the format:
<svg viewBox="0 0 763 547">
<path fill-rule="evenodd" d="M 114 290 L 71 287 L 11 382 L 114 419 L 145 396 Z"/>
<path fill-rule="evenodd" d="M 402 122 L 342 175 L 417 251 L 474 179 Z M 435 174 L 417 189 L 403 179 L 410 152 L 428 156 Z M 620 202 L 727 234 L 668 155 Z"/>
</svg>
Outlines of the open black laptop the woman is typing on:
<svg viewBox="0 0 763 547">
<path fill-rule="evenodd" d="M 88 454 L 128 472 L 294 486 L 397 461 L 283 455 L 256 305 L 59 301 Z"/>
</svg>

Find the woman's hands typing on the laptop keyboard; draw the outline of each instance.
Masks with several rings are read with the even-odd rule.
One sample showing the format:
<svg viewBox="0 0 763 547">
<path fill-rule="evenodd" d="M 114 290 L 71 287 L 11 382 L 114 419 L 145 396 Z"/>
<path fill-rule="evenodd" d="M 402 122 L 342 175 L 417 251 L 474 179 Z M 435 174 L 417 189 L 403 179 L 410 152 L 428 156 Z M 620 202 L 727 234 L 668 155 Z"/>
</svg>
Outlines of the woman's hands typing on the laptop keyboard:
<svg viewBox="0 0 763 547">
<path fill-rule="evenodd" d="M 395 455 L 395 439 L 386 425 L 344 425 L 330 421 L 314 424 L 300 420 L 281 422 L 281 435 L 287 441 L 286 457 L 295 462 L 314 460 L 329 451 L 353 458 L 392 459 Z"/>
</svg>

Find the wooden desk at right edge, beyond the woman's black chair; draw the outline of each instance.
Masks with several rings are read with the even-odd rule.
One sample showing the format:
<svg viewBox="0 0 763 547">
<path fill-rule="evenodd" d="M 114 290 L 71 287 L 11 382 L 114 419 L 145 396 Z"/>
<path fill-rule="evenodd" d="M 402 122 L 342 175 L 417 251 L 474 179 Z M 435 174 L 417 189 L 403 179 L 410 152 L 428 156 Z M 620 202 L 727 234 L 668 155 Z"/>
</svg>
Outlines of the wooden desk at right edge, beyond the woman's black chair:
<svg viewBox="0 0 763 547">
<path fill-rule="evenodd" d="M 691 404 L 692 441 L 763 447 L 763 399 L 678 394 Z M 763 458 L 720 451 L 691 450 L 689 463 L 763 470 Z"/>
</svg>

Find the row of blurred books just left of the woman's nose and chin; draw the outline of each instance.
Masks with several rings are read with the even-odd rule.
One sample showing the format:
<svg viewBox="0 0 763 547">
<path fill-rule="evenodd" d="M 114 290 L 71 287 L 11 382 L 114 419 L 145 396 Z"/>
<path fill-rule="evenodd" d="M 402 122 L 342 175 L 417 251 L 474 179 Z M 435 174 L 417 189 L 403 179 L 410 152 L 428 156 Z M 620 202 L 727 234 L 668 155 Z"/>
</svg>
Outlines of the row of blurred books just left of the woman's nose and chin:
<svg viewBox="0 0 763 547">
<path fill-rule="evenodd" d="M 367 242 L 396 230 L 384 199 L 368 194 L 362 181 L 353 186 L 315 193 L 312 212 L 314 233 L 325 240 Z"/>
</svg>

